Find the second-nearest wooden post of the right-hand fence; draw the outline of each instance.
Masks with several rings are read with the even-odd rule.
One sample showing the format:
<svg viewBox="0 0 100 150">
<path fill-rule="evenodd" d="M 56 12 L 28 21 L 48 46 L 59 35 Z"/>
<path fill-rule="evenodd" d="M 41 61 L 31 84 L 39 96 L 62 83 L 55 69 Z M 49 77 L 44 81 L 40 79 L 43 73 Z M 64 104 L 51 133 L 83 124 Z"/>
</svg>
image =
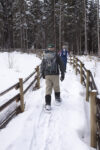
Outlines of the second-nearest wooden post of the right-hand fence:
<svg viewBox="0 0 100 150">
<path fill-rule="evenodd" d="M 86 71 L 86 101 L 89 100 L 89 82 L 90 82 L 90 70 Z"/>
</svg>

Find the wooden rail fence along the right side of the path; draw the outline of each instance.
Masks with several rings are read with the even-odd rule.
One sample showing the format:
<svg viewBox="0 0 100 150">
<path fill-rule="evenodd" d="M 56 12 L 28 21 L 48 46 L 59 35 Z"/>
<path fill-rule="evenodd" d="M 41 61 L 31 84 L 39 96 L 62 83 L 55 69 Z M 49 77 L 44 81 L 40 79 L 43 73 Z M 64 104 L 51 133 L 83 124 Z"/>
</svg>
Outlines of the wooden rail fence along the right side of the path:
<svg viewBox="0 0 100 150">
<path fill-rule="evenodd" d="M 70 64 L 80 74 L 80 82 L 86 87 L 86 101 L 90 100 L 91 146 L 100 150 L 100 97 L 90 70 L 75 56 L 70 56 Z"/>
</svg>

